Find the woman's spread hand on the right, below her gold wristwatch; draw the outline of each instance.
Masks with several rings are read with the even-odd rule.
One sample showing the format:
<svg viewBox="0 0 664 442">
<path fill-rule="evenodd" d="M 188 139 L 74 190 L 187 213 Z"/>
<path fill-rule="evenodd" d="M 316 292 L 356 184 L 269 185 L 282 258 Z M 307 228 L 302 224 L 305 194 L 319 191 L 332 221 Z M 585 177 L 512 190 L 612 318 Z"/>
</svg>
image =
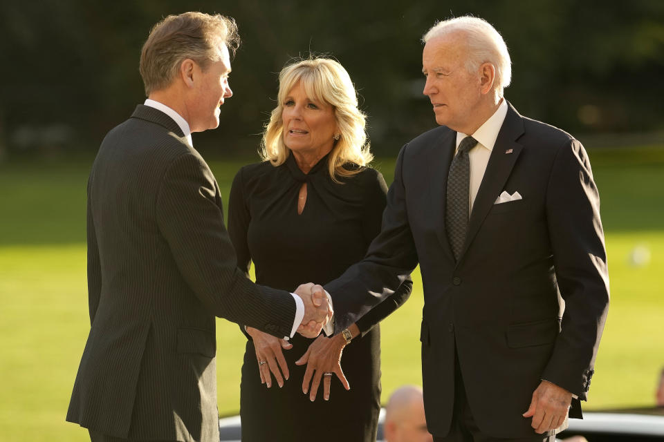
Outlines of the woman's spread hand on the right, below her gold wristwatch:
<svg viewBox="0 0 664 442">
<path fill-rule="evenodd" d="M 332 376 L 324 376 L 325 373 L 336 374 L 346 390 L 350 390 L 351 386 L 344 376 L 344 371 L 341 368 L 341 354 L 346 347 L 346 340 L 341 334 L 326 338 L 320 335 L 316 338 L 306 353 L 302 355 L 295 362 L 295 365 L 306 364 L 306 372 L 304 372 L 304 381 L 302 381 L 302 392 L 304 394 L 309 391 L 309 399 L 315 401 L 318 387 L 320 386 L 320 378 L 323 380 L 323 398 L 326 401 L 330 399 L 330 385 L 332 383 Z M 313 381 L 312 381 L 313 376 Z M 309 390 L 309 383 L 311 381 L 311 390 Z"/>
</svg>

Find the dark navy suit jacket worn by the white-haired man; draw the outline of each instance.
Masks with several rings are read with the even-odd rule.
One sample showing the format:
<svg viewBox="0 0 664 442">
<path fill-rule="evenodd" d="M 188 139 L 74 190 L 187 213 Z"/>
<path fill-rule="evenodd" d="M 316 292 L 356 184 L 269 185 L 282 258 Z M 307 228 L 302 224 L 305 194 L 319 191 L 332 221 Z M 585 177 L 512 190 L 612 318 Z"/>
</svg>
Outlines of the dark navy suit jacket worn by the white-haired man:
<svg viewBox="0 0 664 442">
<path fill-rule="evenodd" d="M 326 285 L 335 331 L 419 263 L 430 432 L 445 436 L 450 428 L 456 349 L 479 429 L 534 436 L 522 413 L 541 380 L 585 400 L 593 374 L 609 304 L 598 191 L 580 142 L 510 104 L 455 262 L 445 190 L 456 136 L 441 126 L 401 149 L 380 235 L 364 260 Z M 503 191 L 522 200 L 495 204 Z M 578 401 L 570 415 L 580 416 Z"/>
</svg>

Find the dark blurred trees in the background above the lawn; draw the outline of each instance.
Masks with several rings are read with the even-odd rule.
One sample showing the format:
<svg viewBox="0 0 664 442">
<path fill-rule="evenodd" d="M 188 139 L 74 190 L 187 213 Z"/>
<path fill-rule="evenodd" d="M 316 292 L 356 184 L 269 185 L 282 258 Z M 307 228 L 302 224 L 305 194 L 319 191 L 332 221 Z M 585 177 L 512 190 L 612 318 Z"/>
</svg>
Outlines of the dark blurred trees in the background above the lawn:
<svg viewBox="0 0 664 442">
<path fill-rule="evenodd" d="M 95 152 L 142 102 L 138 59 L 151 26 L 185 10 L 235 17 L 243 39 L 221 128 L 195 135 L 204 155 L 255 152 L 277 73 L 310 52 L 347 68 L 374 151 L 393 155 L 435 124 L 421 94 L 423 32 L 465 14 L 504 36 L 513 59 L 506 97 L 524 115 L 582 141 L 663 138 L 663 1 L 42 0 L 0 6 L 0 155 Z"/>
</svg>

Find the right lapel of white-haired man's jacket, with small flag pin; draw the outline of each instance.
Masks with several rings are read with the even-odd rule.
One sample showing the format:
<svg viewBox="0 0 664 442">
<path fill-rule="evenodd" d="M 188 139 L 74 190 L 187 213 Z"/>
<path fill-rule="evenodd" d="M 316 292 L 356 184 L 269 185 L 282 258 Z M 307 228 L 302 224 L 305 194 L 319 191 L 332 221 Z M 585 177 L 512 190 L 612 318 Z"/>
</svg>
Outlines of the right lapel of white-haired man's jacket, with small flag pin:
<svg viewBox="0 0 664 442">
<path fill-rule="evenodd" d="M 514 165 L 519 158 L 523 146 L 515 140 L 524 133 L 524 122 L 513 108 L 512 104 L 508 102 L 508 111 L 505 116 L 503 126 L 500 128 L 496 143 L 493 146 L 493 151 L 489 157 L 489 162 L 486 165 L 486 171 L 482 178 L 482 183 L 477 191 L 470 213 L 470 220 L 468 221 L 468 233 L 465 236 L 463 249 L 461 249 L 461 257 L 465 254 L 472 243 L 472 240 L 477 235 L 477 231 L 484 222 L 484 218 L 491 210 L 496 199 L 503 191 L 505 183 L 507 182 Z M 510 151 L 511 150 L 511 151 Z M 507 153 L 510 152 L 510 153 Z"/>
</svg>

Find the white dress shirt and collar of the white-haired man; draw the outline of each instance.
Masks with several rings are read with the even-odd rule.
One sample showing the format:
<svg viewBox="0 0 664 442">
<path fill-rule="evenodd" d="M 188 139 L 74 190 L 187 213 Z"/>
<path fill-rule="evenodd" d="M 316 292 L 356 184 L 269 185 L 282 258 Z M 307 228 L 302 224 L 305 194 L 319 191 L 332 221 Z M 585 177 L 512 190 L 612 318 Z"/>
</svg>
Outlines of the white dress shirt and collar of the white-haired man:
<svg viewBox="0 0 664 442">
<path fill-rule="evenodd" d="M 477 140 L 477 146 L 472 148 L 468 153 L 468 158 L 470 159 L 469 215 L 472 212 L 472 205 L 475 202 L 475 197 L 477 197 L 479 186 L 482 184 L 486 165 L 489 162 L 489 157 L 493 151 L 494 144 L 496 144 L 496 138 L 498 137 L 500 128 L 503 126 L 506 115 L 507 101 L 503 98 L 495 113 L 484 124 L 479 126 L 477 131 L 470 135 Z M 461 140 L 468 136 L 468 134 L 457 132 L 457 151 L 459 150 Z M 457 155 L 457 151 L 454 151 L 454 155 Z"/>
</svg>

